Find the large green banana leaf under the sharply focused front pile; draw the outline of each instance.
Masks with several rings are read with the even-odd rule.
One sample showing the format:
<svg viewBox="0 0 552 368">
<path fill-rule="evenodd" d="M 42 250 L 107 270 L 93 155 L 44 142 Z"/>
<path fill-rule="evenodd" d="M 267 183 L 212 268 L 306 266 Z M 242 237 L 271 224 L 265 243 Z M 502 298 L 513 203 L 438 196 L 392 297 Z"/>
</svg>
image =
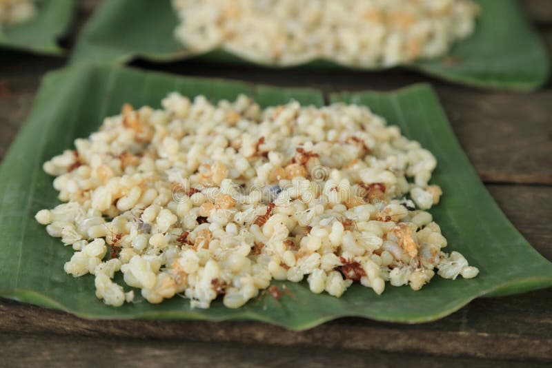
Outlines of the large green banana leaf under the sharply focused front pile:
<svg viewBox="0 0 552 368">
<path fill-rule="evenodd" d="M 381 296 L 353 285 L 341 298 L 312 294 L 306 282 L 278 282 L 287 292 L 278 299 L 259 294 L 239 309 L 216 300 L 210 309 L 190 309 L 175 296 L 151 305 L 110 307 L 97 299 L 93 276 L 72 278 L 63 263 L 72 255 L 34 220 L 42 208 L 59 203 L 52 178 L 42 163 L 77 137 L 97 130 L 104 116 L 117 114 L 123 103 L 159 108 L 170 91 L 211 101 L 252 96 L 262 105 L 295 99 L 323 105 L 316 90 L 280 89 L 218 79 L 199 79 L 109 65 L 77 65 L 46 76 L 30 117 L 0 167 L 0 296 L 70 311 L 85 318 L 178 318 L 199 320 L 261 320 L 288 329 L 306 329 L 343 316 L 420 323 L 441 318 L 473 298 L 526 292 L 552 285 L 552 263 L 540 256 L 509 223 L 480 182 L 458 145 L 435 93 L 426 84 L 396 92 L 332 94 L 331 101 L 370 106 L 389 124 L 435 154 L 434 182 L 444 190 L 432 209 L 449 240 L 447 252 L 462 252 L 479 267 L 477 278 L 433 278 L 420 292 L 387 285 Z M 128 287 L 126 287 L 128 289 Z"/>
</svg>

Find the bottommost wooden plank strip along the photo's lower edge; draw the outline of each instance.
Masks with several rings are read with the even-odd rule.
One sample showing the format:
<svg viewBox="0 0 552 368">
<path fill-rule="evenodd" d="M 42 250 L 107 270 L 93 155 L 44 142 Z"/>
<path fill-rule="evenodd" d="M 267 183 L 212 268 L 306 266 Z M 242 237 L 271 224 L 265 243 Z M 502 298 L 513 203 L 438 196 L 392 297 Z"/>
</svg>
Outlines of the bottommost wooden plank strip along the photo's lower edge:
<svg viewBox="0 0 552 368">
<path fill-rule="evenodd" d="M 0 336 L 3 367 L 544 367 L 544 362 L 446 358 L 379 351 L 304 349 L 262 345 L 186 343 L 174 340 L 86 338 L 75 336 Z"/>
</svg>

